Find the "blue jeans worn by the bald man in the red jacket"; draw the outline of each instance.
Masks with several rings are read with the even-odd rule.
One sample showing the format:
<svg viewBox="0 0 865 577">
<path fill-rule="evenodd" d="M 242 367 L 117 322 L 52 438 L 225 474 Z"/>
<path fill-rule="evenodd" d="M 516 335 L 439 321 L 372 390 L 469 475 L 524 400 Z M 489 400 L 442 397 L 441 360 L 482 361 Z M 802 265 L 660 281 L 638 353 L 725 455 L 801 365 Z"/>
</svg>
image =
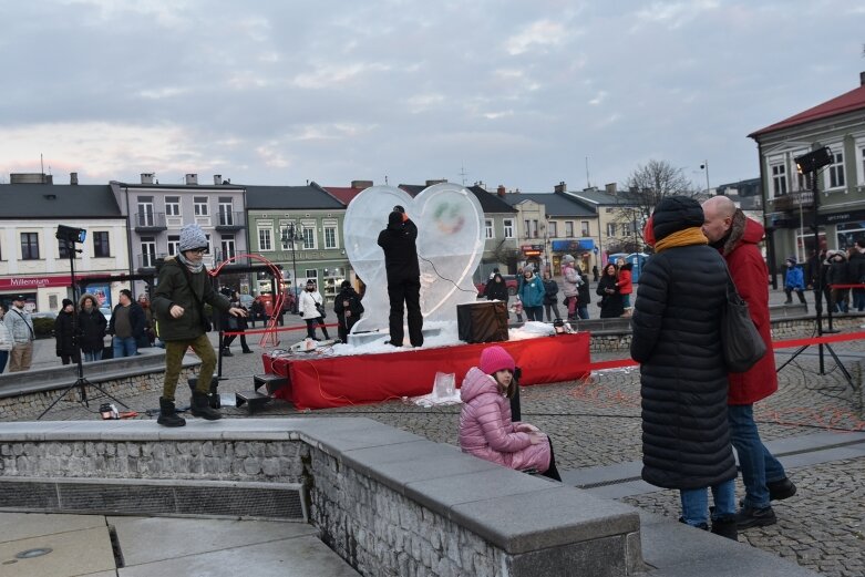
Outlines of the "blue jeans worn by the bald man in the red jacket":
<svg viewBox="0 0 865 577">
<path fill-rule="evenodd" d="M 731 404 L 727 408 L 730 422 L 730 439 L 739 454 L 739 467 L 745 486 L 746 507 L 765 508 L 769 506 L 769 488 L 773 483 L 786 477 L 784 467 L 763 446 L 754 422 L 754 405 Z"/>
</svg>

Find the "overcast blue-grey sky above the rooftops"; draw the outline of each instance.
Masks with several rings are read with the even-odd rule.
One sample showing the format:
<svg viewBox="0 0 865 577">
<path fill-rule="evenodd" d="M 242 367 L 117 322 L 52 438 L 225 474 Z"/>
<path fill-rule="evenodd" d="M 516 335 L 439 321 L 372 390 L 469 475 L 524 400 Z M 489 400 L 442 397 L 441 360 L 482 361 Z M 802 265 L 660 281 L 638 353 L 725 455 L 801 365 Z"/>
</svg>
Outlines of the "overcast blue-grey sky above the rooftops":
<svg viewBox="0 0 865 577">
<path fill-rule="evenodd" d="M 759 176 L 749 133 L 865 70 L 855 0 L 0 0 L 0 21 L 2 183 L 42 154 L 56 183 L 538 193 L 655 158 L 715 186 Z"/>
</svg>

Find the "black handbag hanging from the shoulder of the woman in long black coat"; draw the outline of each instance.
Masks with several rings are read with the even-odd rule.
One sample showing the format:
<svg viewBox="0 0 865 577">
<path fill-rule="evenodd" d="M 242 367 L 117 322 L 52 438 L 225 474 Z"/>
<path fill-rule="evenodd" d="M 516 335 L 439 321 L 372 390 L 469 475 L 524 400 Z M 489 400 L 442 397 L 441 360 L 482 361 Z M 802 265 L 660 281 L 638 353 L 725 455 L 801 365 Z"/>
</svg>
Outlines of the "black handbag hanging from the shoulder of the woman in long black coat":
<svg viewBox="0 0 865 577">
<path fill-rule="evenodd" d="M 727 307 L 721 315 L 721 346 L 730 372 L 745 372 L 763 358 L 766 344 L 727 270 Z"/>
</svg>

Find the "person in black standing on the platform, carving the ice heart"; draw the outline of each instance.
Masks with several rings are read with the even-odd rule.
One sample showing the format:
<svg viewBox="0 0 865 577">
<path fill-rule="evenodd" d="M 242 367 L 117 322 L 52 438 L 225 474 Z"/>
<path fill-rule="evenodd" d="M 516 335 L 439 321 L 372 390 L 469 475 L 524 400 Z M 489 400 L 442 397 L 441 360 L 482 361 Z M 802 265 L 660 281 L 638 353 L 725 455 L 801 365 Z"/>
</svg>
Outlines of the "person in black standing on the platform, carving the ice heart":
<svg viewBox="0 0 865 577">
<path fill-rule="evenodd" d="M 390 300 L 390 343 L 402 347 L 403 303 L 408 309 L 409 341 L 423 347 L 423 315 L 421 313 L 421 267 L 418 262 L 418 227 L 401 206 L 388 215 L 388 228 L 379 233 L 379 246 L 384 250 Z"/>
</svg>

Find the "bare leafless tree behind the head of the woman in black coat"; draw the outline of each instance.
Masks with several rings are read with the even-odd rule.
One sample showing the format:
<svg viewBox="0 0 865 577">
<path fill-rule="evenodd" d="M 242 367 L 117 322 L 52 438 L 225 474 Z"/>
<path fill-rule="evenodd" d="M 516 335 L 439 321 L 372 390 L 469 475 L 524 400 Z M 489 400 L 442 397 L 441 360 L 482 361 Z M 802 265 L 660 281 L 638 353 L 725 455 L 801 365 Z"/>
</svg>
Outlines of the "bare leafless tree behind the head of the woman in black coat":
<svg viewBox="0 0 865 577">
<path fill-rule="evenodd" d="M 668 196 L 694 197 L 699 190 L 667 161 L 651 159 L 645 166 L 638 165 L 626 181 L 628 192 L 617 207 L 611 221 L 616 235 L 609 238 L 610 253 L 639 253 L 646 247 L 642 229 L 655 207 Z"/>
</svg>

